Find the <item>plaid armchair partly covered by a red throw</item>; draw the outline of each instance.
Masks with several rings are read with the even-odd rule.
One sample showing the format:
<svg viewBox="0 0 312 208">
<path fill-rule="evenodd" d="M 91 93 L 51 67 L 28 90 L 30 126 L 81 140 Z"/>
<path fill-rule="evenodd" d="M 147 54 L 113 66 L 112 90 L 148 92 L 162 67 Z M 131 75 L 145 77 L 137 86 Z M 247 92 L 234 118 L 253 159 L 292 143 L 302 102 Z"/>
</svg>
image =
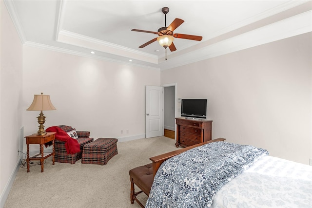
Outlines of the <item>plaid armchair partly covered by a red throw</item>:
<svg viewBox="0 0 312 208">
<path fill-rule="evenodd" d="M 65 132 L 71 132 L 74 130 L 71 126 L 59 125 L 58 127 Z M 77 131 L 77 135 L 80 151 L 75 154 L 67 154 L 64 141 L 58 139 L 54 140 L 55 162 L 75 164 L 77 160 L 81 159 L 83 146 L 93 142 L 93 138 L 90 138 L 90 132 Z"/>
</svg>

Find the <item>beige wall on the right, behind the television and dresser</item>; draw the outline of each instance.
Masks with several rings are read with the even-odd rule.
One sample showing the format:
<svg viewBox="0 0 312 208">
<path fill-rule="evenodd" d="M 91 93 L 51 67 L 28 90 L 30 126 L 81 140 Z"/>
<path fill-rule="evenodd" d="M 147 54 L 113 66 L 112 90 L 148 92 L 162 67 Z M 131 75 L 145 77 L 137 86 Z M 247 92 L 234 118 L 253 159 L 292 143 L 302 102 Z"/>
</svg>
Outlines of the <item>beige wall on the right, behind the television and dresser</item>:
<svg viewBox="0 0 312 208">
<path fill-rule="evenodd" d="M 162 71 L 161 84 L 177 83 L 178 98 L 208 99 L 214 138 L 309 164 L 311 41 L 303 34 Z"/>
</svg>

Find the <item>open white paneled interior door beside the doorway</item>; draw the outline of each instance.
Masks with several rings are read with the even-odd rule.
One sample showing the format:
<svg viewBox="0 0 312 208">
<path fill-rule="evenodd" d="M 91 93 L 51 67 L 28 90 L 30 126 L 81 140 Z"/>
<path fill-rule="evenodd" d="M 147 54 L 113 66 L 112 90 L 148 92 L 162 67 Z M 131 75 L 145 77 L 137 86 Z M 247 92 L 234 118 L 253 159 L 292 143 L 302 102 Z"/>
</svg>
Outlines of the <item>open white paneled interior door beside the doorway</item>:
<svg viewBox="0 0 312 208">
<path fill-rule="evenodd" d="M 146 86 L 146 138 L 164 135 L 164 88 Z"/>
</svg>

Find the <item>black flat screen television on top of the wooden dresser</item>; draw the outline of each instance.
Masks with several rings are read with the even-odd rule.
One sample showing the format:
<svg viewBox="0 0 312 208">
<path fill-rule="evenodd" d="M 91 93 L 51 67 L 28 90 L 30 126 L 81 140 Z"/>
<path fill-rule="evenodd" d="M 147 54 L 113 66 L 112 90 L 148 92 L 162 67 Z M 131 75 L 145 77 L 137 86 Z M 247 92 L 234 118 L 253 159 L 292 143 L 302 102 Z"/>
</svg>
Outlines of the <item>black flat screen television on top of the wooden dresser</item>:
<svg viewBox="0 0 312 208">
<path fill-rule="evenodd" d="M 207 117 L 207 99 L 181 99 L 181 116 Z"/>
</svg>

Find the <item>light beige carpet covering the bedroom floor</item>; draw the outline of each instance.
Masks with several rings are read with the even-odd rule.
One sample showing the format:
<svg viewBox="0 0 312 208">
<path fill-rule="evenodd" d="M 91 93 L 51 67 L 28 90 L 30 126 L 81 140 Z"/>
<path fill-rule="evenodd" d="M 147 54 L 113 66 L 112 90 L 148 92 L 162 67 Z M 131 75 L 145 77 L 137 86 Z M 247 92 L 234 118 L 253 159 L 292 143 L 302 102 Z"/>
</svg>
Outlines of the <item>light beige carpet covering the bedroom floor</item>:
<svg viewBox="0 0 312 208">
<path fill-rule="evenodd" d="M 139 208 L 130 203 L 129 170 L 151 163 L 150 157 L 177 150 L 164 136 L 117 143 L 118 154 L 104 166 L 55 163 L 46 159 L 44 172 L 36 165 L 20 170 L 4 208 Z M 138 188 L 136 187 L 136 191 Z M 147 196 L 138 195 L 145 204 Z"/>
</svg>

